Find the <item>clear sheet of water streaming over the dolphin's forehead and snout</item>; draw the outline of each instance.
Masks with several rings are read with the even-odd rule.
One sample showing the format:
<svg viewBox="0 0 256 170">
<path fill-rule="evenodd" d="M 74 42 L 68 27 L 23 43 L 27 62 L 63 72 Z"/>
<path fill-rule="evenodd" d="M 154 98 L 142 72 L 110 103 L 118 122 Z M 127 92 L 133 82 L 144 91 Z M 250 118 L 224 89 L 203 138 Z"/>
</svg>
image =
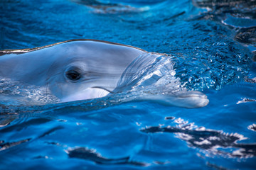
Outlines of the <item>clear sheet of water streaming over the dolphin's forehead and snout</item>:
<svg viewBox="0 0 256 170">
<path fill-rule="evenodd" d="M 122 74 L 118 82 L 119 91 L 139 91 L 150 87 L 165 86 L 166 91 L 182 91 L 185 88 L 175 77 L 174 62 L 171 56 L 146 53 L 137 57 Z M 155 90 L 156 94 L 164 89 Z M 142 90 L 143 91 L 143 90 Z"/>
</svg>

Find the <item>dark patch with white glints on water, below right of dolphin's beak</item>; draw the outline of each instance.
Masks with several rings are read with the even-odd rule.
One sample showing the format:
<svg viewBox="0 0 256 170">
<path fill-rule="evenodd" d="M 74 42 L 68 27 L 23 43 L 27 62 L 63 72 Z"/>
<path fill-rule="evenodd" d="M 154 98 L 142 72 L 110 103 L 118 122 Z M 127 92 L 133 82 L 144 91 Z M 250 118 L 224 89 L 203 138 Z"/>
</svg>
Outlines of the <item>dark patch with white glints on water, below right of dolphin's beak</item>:
<svg viewBox="0 0 256 170">
<path fill-rule="evenodd" d="M 169 120 L 169 119 L 168 119 Z M 247 138 L 238 133 L 225 133 L 221 130 L 210 130 L 204 127 L 197 127 L 194 123 L 188 123 L 181 118 L 176 118 L 174 122 L 178 123 L 174 126 L 152 126 L 142 128 L 142 132 L 157 133 L 169 132 L 176 134 L 181 140 L 188 142 L 189 147 L 196 147 L 206 151 L 208 157 L 220 155 L 222 157 L 238 157 L 247 158 L 256 156 L 255 143 L 240 143 L 241 140 Z M 255 128 L 250 125 L 250 128 Z"/>
</svg>

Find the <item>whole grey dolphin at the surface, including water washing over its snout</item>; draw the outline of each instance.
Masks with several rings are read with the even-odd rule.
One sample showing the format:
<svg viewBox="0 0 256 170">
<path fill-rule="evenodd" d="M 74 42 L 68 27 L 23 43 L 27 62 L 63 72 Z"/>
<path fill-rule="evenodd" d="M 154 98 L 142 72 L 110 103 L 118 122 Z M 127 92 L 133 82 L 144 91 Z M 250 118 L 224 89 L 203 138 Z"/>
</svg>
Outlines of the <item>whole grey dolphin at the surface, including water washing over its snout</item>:
<svg viewBox="0 0 256 170">
<path fill-rule="evenodd" d="M 0 103 L 21 100 L 21 96 L 30 102 L 61 103 L 114 95 L 122 96 L 121 101 L 154 101 L 185 108 L 209 102 L 200 91 L 181 86 L 170 56 L 129 45 L 68 40 L 2 50 L 0 55 Z"/>
</svg>

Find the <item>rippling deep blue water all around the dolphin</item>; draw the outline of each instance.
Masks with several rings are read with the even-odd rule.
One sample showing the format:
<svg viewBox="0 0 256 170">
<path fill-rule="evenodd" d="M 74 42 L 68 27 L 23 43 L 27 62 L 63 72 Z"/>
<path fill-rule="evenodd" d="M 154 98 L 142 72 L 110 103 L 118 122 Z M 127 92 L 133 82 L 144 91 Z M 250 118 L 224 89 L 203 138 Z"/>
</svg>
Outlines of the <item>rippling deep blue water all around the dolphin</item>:
<svg viewBox="0 0 256 170">
<path fill-rule="evenodd" d="M 1 50 L 86 38 L 166 53 L 184 86 L 210 100 L 0 105 L 0 169 L 256 169 L 255 6 L 0 1 Z"/>
</svg>

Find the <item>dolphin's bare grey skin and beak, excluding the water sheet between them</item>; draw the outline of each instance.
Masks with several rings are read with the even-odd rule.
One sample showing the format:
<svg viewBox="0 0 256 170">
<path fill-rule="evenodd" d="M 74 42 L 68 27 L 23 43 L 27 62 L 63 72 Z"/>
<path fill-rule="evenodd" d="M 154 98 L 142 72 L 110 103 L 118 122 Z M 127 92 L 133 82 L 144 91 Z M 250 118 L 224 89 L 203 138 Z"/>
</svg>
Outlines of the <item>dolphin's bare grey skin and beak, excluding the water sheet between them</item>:
<svg viewBox="0 0 256 170">
<path fill-rule="evenodd" d="M 101 98 L 122 91 L 120 79 L 130 79 L 127 67 L 145 50 L 100 40 L 68 40 L 44 47 L 0 51 L 0 80 L 40 86 L 60 102 Z M 155 57 L 149 57 L 149 60 Z M 142 65 L 137 65 L 142 67 Z M 136 70 L 139 68 L 134 68 Z M 136 72 L 131 74 L 134 75 Z M 120 86 L 120 88 L 119 88 Z M 127 84 L 129 86 L 129 84 Z M 128 88 L 129 89 L 129 88 Z M 1 95 L 1 91 L 0 91 Z M 0 96 L 1 101 L 1 96 Z M 135 101 L 156 101 L 171 106 L 198 108 L 208 104 L 199 91 L 174 95 L 144 95 Z"/>
</svg>

